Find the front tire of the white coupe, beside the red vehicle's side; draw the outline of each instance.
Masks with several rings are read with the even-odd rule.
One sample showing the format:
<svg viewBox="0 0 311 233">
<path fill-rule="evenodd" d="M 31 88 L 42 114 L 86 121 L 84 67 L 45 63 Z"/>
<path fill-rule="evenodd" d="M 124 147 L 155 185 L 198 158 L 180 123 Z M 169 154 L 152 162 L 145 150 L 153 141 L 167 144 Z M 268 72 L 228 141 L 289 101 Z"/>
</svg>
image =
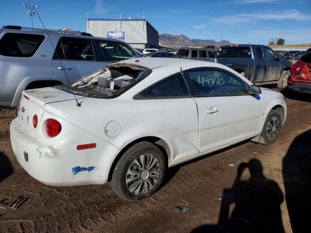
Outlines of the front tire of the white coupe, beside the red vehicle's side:
<svg viewBox="0 0 311 233">
<path fill-rule="evenodd" d="M 268 130 L 268 125 L 270 121 L 274 121 L 275 119 L 277 119 L 278 125 L 276 125 L 275 130 L 271 129 L 272 133 L 274 134 L 273 137 L 271 138 L 270 137 L 271 131 Z M 281 125 L 282 125 L 282 117 L 280 113 L 277 110 L 271 110 L 266 118 L 266 121 L 264 122 L 259 143 L 262 143 L 265 145 L 272 145 L 276 141 L 280 133 Z M 271 127 L 269 126 L 269 128 Z"/>
</svg>

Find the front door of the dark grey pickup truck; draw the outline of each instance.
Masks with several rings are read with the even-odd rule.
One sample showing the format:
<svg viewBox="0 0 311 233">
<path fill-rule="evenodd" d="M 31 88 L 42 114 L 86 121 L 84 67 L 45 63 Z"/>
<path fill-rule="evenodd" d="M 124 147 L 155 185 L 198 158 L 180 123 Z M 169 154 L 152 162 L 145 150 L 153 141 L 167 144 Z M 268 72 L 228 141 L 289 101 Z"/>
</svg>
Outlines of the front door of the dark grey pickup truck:
<svg viewBox="0 0 311 233">
<path fill-rule="evenodd" d="M 264 48 L 264 55 L 267 62 L 267 75 L 266 81 L 277 81 L 280 79 L 280 62 L 276 60 L 275 53 L 270 48 Z"/>
</svg>

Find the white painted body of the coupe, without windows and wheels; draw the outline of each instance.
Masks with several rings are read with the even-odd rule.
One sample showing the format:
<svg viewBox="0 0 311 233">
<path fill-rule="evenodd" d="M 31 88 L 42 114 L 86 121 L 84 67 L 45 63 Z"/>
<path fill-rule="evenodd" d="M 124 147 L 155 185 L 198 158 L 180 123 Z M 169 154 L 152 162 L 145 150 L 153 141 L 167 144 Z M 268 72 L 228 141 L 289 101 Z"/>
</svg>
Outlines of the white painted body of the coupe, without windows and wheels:
<svg viewBox="0 0 311 233">
<path fill-rule="evenodd" d="M 252 85 L 226 66 L 171 58 L 136 58 L 124 63 L 149 67 L 152 72 L 116 98 L 77 94 L 82 101 L 78 107 L 73 94 L 63 90 L 23 91 L 10 135 L 18 162 L 31 176 L 49 185 L 103 184 L 120 152 L 137 141 L 156 139 L 167 151 L 167 166 L 171 167 L 260 135 L 265 118 L 276 106 L 283 109 L 281 124 L 285 122 L 283 95 L 265 88 L 256 98 L 133 99 L 151 84 L 195 67 L 223 69 Z M 219 111 L 207 114 L 212 107 Z M 35 114 L 38 126 L 34 129 Z M 48 118 L 62 125 L 55 137 L 45 132 Z M 96 148 L 77 150 L 78 145 L 90 143 L 96 143 Z"/>
</svg>

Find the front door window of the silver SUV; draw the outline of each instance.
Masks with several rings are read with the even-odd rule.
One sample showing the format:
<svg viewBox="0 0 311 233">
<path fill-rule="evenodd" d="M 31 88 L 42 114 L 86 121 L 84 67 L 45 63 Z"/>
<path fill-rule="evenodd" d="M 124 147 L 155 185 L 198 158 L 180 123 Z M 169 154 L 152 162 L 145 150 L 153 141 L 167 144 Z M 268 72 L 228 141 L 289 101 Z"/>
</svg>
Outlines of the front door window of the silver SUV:
<svg viewBox="0 0 311 233">
<path fill-rule="evenodd" d="M 123 44 L 111 43 L 110 41 L 96 40 L 100 61 L 117 62 L 130 59 L 135 56 L 134 52 Z M 148 51 L 148 50 L 146 50 Z M 153 52 L 153 50 L 151 50 Z"/>
</svg>

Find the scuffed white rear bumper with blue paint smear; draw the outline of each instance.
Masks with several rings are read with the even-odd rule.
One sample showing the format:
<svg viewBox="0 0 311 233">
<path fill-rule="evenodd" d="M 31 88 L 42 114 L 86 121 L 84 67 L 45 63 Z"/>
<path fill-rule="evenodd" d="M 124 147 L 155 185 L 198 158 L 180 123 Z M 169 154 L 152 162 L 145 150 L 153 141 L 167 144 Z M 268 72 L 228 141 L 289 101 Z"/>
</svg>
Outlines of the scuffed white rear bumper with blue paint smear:
<svg viewBox="0 0 311 233">
<path fill-rule="evenodd" d="M 18 119 L 14 119 L 10 125 L 10 137 L 17 161 L 29 175 L 48 185 L 105 183 L 111 160 L 120 150 L 78 127 L 72 131 L 65 143 L 49 145 L 47 138 L 31 136 Z M 77 150 L 77 144 L 80 144 L 77 137 L 96 143 L 96 148 Z"/>
</svg>

